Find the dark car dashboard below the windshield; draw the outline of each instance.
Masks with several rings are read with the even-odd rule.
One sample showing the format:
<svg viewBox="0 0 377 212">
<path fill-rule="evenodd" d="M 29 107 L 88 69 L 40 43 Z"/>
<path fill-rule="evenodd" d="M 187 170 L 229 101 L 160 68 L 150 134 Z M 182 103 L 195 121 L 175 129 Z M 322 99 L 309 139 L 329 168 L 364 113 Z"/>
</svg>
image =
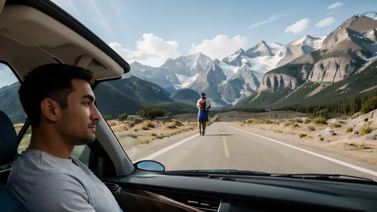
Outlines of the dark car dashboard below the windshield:
<svg viewBox="0 0 377 212">
<path fill-rule="evenodd" d="M 124 211 L 377 211 L 376 185 L 145 171 L 102 181 Z"/>
</svg>

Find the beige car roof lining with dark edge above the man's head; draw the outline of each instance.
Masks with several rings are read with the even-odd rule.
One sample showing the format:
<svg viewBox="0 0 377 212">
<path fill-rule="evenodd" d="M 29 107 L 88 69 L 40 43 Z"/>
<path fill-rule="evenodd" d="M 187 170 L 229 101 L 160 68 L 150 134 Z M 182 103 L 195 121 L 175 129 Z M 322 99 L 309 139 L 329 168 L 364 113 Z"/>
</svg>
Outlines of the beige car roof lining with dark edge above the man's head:
<svg viewBox="0 0 377 212">
<path fill-rule="evenodd" d="M 129 71 L 46 13 L 27 5 L 4 6 L 4 2 L 0 0 L 0 59 L 20 78 L 39 65 L 58 61 L 87 68 L 96 80 L 119 78 Z"/>
</svg>

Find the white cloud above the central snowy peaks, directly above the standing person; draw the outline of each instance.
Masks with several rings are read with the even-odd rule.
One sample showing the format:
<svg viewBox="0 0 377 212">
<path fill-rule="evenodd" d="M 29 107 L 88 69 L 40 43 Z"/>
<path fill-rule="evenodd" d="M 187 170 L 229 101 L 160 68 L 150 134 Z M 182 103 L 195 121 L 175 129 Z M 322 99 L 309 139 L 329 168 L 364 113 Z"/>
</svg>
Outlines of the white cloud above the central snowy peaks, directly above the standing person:
<svg viewBox="0 0 377 212">
<path fill-rule="evenodd" d="M 219 60 L 233 54 L 239 48 L 247 44 L 247 37 L 236 35 L 233 38 L 227 35 L 217 35 L 214 39 L 205 39 L 201 44 L 191 45 L 190 54 L 201 52 L 211 59 L 218 58 Z"/>
</svg>

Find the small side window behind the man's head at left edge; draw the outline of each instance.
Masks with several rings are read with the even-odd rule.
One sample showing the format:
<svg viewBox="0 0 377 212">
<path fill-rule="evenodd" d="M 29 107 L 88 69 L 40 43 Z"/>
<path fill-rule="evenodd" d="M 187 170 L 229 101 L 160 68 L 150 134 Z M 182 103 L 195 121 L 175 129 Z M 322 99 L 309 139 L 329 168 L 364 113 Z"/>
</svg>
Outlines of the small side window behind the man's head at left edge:
<svg viewBox="0 0 377 212">
<path fill-rule="evenodd" d="M 0 110 L 8 115 L 17 132 L 23 127 L 26 114 L 18 98 L 20 83 L 12 70 L 0 63 Z"/>
</svg>

